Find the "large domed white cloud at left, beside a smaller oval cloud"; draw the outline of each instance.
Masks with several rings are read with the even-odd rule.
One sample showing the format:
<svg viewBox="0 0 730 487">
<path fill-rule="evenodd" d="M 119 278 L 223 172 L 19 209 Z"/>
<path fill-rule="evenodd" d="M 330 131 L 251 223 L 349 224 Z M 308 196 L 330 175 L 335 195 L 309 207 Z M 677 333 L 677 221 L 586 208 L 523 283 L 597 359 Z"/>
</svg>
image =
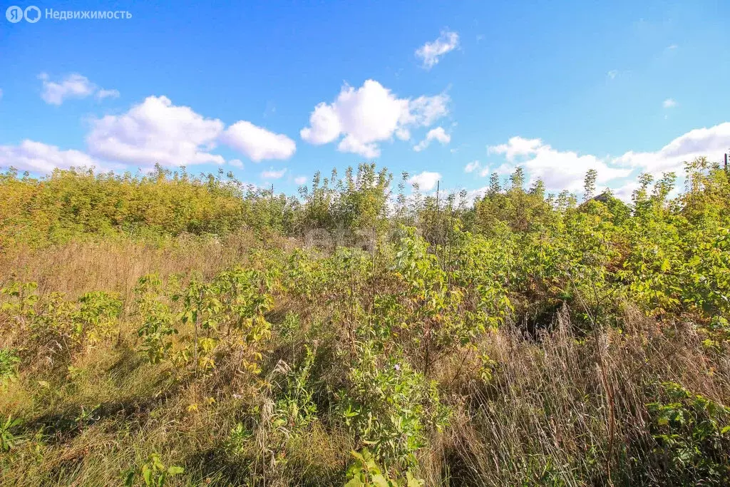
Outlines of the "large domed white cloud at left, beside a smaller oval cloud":
<svg viewBox="0 0 730 487">
<path fill-rule="evenodd" d="M 166 96 L 149 96 L 123 115 L 93 120 L 86 142 L 92 156 L 127 164 L 223 164 L 223 157 L 209 152 L 222 132 L 220 120 Z"/>
</svg>

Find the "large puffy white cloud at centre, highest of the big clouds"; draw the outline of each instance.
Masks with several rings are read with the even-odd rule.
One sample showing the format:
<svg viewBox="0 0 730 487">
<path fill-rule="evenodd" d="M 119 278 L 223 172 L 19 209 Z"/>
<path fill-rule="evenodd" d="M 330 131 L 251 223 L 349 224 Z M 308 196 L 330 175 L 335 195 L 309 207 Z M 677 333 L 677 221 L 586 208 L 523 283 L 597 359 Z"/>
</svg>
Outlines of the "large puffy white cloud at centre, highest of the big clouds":
<svg viewBox="0 0 730 487">
<path fill-rule="evenodd" d="M 331 104 L 322 102 L 310 115 L 310 125 L 299 132 L 310 144 L 323 145 L 340 137 L 337 150 L 366 158 L 380 156 L 379 142 L 410 139 L 410 128 L 430 126 L 447 113 L 448 96 L 400 99 L 375 80 L 361 88 L 342 87 Z"/>
</svg>

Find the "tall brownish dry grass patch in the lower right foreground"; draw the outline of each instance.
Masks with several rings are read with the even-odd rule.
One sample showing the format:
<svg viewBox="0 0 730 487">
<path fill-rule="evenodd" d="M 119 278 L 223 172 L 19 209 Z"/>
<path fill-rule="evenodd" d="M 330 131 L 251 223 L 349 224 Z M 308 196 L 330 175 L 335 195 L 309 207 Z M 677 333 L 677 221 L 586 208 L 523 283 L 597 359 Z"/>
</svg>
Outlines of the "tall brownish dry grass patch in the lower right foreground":
<svg viewBox="0 0 730 487">
<path fill-rule="evenodd" d="M 537 339 L 507 326 L 443 367 L 456 412 L 424 458 L 427 484 L 668 485 L 647 454 L 646 404 L 660 381 L 729 404 L 730 359 L 708 355 L 691 323 L 660 329 L 629 305 L 622 321 L 577 336 L 562 310 Z M 486 383 L 481 353 L 494 361 Z"/>
</svg>

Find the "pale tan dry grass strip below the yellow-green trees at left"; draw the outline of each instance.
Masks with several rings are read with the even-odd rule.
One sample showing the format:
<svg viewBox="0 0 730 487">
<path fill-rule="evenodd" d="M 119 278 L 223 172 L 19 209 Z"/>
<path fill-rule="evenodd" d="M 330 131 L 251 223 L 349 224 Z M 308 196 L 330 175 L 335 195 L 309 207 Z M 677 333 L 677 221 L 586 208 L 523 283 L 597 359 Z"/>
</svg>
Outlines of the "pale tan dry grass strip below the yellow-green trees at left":
<svg viewBox="0 0 730 487">
<path fill-rule="evenodd" d="M 225 237 L 183 234 L 179 237 L 74 240 L 47 248 L 14 248 L 0 253 L 0 287 L 10 280 L 36 282 L 39 291 L 70 297 L 91 290 L 128 298 L 142 275 L 161 277 L 199 272 L 210 277 L 234 264 L 245 264 L 254 248 L 285 248 L 292 239 L 239 230 Z"/>
</svg>

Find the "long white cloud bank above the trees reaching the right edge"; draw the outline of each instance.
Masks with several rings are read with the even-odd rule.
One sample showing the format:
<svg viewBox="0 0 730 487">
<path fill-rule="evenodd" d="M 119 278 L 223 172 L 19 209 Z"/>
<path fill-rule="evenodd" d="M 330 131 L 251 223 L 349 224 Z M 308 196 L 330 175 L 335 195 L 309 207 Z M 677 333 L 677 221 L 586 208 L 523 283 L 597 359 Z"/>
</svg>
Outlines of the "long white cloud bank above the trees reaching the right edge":
<svg viewBox="0 0 730 487">
<path fill-rule="evenodd" d="M 507 160 L 497 172 L 508 172 L 519 165 L 533 180 L 542 179 L 549 189 L 578 191 L 583 186 L 583 177 L 588 169 L 596 169 L 599 185 L 620 180 L 633 172 L 656 175 L 674 171 L 680 175 L 684 161 L 701 156 L 718 161 L 727 147 L 730 147 L 730 122 L 709 129 L 689 131 L 656 152 L 629 151 L 618 157 L 579 155 L 570 150 L 556 150 L 541 139 L 523 137 L 512 137 L 506 144 L 490 146 L 488 153 L 500 154 Z M 482 172 L 483 175 L 485 173 Z"/>
</svg>

